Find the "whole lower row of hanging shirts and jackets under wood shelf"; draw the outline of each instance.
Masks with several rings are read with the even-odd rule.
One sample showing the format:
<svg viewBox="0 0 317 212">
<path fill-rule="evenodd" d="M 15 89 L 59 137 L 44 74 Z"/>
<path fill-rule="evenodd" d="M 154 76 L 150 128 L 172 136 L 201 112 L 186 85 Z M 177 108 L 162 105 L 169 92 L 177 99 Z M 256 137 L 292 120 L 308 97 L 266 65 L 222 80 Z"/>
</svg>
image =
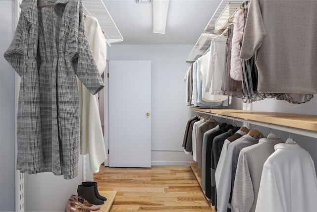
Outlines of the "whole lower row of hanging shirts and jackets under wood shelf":
<svg viewBox="0 0 317 212">
<path fill-rule="evenodd" d="M 317 178 L 308 151 L 291 138 L 198 115 L 182 146 L 202 170 L 202 189 L 218 212 L 313 212 Z"/>
</svg>

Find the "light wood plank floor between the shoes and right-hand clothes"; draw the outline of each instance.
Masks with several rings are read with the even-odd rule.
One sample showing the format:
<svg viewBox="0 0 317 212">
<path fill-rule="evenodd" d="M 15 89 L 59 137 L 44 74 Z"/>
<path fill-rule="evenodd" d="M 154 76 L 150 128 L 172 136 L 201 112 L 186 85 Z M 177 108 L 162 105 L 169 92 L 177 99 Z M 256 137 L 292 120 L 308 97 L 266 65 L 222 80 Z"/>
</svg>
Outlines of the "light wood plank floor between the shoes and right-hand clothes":
<svg viewBox="0 0 317 212">
<path fill-rule="evenodd" d="M 94 174 L 99 191 L 116 191 L 110 212 L 211 212 L 190 166 L 109 168 Z"/>
</svg>

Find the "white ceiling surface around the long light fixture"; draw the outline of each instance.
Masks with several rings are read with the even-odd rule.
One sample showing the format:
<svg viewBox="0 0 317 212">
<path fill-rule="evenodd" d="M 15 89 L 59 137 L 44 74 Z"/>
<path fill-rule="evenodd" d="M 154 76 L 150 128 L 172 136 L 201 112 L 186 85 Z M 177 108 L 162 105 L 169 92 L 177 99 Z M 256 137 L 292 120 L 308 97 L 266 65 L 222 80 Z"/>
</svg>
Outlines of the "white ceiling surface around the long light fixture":
<svg viewBox="0 0 317 212">
<path fill-rule="evenodd" d="M 195 44 L 221 0 L 169 0 L 165 34 L 153 33 L 152 3 L 103 0 L 123 41 L 111 45 Z"/>
</svg>

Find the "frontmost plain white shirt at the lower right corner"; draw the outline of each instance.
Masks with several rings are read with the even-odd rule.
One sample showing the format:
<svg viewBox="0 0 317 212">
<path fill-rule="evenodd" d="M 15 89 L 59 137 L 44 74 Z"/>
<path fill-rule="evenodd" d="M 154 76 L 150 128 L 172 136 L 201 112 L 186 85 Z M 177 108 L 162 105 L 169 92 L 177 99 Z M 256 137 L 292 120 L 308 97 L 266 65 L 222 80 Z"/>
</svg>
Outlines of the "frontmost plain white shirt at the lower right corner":
<svg viewBox="0 0 317 212">
<path fill-rule="evenodd" d="M 314 161 L 300 145 L 278 143 L 264 163 L 256 212 L 315 212 Z"/>
</svg>

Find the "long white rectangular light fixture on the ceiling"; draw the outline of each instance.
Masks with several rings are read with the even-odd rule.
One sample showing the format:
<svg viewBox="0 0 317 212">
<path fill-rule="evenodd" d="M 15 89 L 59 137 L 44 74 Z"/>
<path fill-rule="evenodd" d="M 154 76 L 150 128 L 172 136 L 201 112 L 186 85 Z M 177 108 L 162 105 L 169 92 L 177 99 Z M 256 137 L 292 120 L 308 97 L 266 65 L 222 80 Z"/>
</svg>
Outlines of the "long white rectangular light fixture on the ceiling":
<svg viewBox="0 0 317 212">
<path fill-rule="evenodd" d="M 153 33 L 165 34 L 169 0 L 153 0 Z"/>
</svg>

